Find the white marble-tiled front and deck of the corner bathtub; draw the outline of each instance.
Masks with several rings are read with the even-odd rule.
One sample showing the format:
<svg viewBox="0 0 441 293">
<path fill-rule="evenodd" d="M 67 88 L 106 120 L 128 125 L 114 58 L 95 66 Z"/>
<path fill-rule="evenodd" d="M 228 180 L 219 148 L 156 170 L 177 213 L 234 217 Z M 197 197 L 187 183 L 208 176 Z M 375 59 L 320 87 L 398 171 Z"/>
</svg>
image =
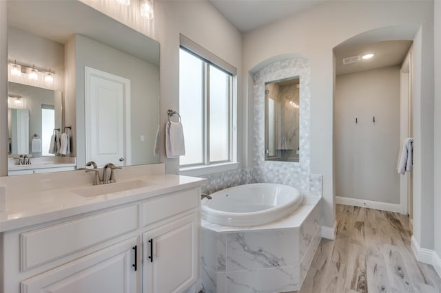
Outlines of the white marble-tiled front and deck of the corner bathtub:
<svg viewBox="0 0 441 293">
<path fill-rule="evenodd" d="M 220 232 L 203 221 L 203 291 L 298 290 L 320 242 L 320 211 L 320 198 L 310 197 L 292 219 L 272 224 Z"/>
</svg>

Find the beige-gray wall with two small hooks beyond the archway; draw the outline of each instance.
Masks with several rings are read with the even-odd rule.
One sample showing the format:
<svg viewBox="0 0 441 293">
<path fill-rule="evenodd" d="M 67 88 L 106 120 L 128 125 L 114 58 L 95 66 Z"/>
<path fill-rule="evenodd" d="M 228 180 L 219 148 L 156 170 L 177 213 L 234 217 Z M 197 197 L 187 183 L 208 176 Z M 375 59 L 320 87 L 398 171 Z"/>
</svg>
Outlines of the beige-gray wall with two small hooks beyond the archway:
<svg viewBox="0 0 441 293">
<path fill-rule="evenodd" d="M 334 123 L 336 196 L 400 204 L 400 68 L 337 76 Z"/>
</svg>

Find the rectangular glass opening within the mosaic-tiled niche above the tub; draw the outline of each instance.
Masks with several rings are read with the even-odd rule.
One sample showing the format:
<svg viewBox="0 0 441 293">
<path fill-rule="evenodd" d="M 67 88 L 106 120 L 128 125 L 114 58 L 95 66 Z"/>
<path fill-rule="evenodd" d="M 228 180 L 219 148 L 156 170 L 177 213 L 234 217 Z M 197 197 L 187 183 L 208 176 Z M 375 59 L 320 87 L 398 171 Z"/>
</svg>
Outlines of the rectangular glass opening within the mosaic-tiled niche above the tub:
<svg viewBox="0 0 441 293">
<path fill-rule="evenodd" d="M 265 83 L 265 160 L 299 161 L 300 78 Z"/>
</svg>

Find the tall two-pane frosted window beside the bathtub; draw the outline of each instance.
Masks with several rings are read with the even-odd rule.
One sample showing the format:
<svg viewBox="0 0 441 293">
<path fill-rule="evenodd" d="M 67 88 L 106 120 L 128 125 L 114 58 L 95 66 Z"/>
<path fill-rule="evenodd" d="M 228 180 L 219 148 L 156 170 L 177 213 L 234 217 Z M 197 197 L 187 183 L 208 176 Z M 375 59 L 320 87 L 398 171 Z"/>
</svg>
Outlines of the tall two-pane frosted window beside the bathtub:
<svg viewBox="0 0 441 293">
<path fill-rule="evenodd" d="M 233 162 L 232 93 L 236 72 L 207 60 L 206 51 L 201 56 L 192 49 L 181 45 L 179 54 L 179 112 L 185 137 L 185 155 L 180 164 Z"/>
</svg>

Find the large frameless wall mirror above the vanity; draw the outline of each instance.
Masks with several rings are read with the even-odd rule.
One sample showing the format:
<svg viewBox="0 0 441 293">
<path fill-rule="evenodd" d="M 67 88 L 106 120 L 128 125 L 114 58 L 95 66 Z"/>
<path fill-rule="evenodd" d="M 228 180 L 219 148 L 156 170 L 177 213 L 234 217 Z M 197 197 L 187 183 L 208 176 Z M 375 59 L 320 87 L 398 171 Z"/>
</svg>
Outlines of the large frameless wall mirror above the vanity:
<svg viewBox="0 0 441 293">
<path fill-rule="evenodd" d="M 159 43 L 144 34 L 80 1 L 8 1 L 8 81 L 8 171 L 20 155 L 33 169 L 159 162 Z M 49 152 L 57 129 L 68 153 Z"/>
</svg>

